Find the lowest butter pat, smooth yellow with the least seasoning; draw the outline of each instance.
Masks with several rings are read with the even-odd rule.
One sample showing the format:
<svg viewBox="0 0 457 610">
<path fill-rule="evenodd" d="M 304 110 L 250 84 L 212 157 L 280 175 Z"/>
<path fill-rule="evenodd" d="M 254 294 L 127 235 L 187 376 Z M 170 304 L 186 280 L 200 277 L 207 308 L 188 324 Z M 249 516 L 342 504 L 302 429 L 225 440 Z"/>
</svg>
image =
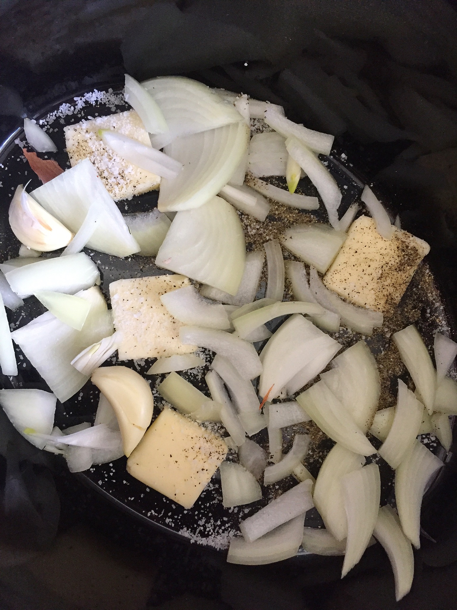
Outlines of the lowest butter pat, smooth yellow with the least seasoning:
<svg viewBox="0 0 457 610">
<path fill-rule="evenodd" d="M 161 412 L 132 451 L 127 471 L 191 508 L 227 454 L 224 440 L 172 409 Z"/>
</svg>

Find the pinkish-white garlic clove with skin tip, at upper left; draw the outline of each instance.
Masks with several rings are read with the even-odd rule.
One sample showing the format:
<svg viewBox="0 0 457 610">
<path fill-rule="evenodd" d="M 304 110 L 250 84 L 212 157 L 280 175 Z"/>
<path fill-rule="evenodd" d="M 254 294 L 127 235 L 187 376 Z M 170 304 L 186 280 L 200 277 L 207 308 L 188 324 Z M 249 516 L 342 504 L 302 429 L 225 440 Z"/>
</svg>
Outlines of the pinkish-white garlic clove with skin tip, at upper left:
<svg viewBox="0 0 457 610">
<path fill-rule="evenodd" d="M 63 248 L 73 239 L 73 233 L 26 193 L 22 184 L 10 203 L 9 220 L 18 240 L 40 252 Z"/>
</svg>

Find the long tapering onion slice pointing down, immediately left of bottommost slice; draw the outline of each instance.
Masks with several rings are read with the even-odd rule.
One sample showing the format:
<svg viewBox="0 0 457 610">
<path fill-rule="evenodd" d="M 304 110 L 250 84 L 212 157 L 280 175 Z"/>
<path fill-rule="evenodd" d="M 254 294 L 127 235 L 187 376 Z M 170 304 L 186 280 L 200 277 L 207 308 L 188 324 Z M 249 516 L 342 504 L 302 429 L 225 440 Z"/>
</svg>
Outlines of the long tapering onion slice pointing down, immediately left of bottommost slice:
<svg viewBox="0 0 457 610">
<path fill-rule="evenodd" d="M 358 561 L 370 542 L 378 518 L 381 478 L 377 464 L 369 464 L 341 477 L 347 515 L 347 540 L 343 578 Z"/>
</svg>

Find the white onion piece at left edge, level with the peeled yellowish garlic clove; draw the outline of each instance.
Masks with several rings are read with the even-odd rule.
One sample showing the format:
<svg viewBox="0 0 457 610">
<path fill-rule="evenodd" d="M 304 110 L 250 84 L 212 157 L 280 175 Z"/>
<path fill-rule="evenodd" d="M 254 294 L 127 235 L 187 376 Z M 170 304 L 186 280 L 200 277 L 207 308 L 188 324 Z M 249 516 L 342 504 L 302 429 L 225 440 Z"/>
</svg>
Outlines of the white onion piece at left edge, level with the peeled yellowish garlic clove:
<svg viewBox="0 0 457 610">
<path fill-rule="evenodd" d="M 0 405 L 8 419 L 24 438 L 38 449 L 46 444 L 32 434 L 26 434 L 29 428 L 41 434 L 51 434 L 54 426 L 55 403 L 57 398 L 43 390 L 22 389 L 0 390 Z"/>
</svg>

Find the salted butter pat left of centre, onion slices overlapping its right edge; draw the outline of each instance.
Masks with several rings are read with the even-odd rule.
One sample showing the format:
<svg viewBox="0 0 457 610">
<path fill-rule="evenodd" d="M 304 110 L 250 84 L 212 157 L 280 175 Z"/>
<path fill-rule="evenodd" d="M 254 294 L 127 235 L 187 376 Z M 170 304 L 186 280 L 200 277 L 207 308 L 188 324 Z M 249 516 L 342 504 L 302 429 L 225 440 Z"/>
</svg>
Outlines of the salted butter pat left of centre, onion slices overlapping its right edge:
<svg viewBox="0 0 457 610">
<path fill-rule="evenodd" d="M 180 342 L 182 323 L 160 300 L 160 295 L 188 285 L 183 275 L 119 279 L 110 284 L 114 325 L 122 335 L 119 360 L 189 354 L 197 349 Z"/>
</svg>

